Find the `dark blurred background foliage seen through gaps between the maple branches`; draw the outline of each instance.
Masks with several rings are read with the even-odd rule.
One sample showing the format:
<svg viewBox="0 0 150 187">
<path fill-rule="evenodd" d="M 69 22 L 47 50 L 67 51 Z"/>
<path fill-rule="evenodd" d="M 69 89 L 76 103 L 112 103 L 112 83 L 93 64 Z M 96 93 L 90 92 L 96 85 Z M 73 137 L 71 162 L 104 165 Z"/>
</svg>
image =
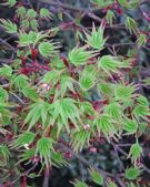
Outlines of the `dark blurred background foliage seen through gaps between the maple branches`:
<svg viewBox="0 0 150 187">
<path fill-rule="evenodd" d="M 41 0 L 42 1 L 42 0 Z M 46 7 L 49 8 L 51 10 L 51 12 L 53 14 L 59 14 L 61 17 L 61 12 L 62 10 L 59 7 L 56 6 L 51 6 L 49 4 L 49 2 L 41 2 L 39 0 L 34 0 L 31 3 L 33 4 L 34 9 L 39 9 L 39 7 Z M 89 9 L 90 8 L 90 3 L 88 0 L 56 0 L 56 3 L 61 2 L 61 3 L 67 3 L 70 4 L 72 7 L 79 7 L 79 8 L 84 8 L 84 9 Z M 28 1 L 26 2 L 28 6 Z M 143 9 L 146 11 L 150 11 L 150 2 L 148 1 L 147 3 L 143 4 Z M 66 13 L 63 14 L 63 21 L 64 22 L 69 22 L 71 18 L 80 18 L 80 14 L 78 12 L 73 12 L 70 10 L 63 10 L 67 13 L 70 14 L 70 18 L 68 18 L 66 15 Z M 141 13 L 139 10 L 134 10 L 134 11 L 127 11 L 127 13 L 129 15 L 132 15 L 132 18 L 134 18 L 136 20 L 138 20 L 139 27 L 141 28 L 141 30 L 147 30 L 147 28 L 149 27 L 147 21 L 142 18 Z M 98 18 L 102 18 L 102 12 L 98 11 L 96 12 Z M 8 9 L 6 7 L 0 7 L 0 18 L 3 19 L 12 19 L 13 17 L 13 9 Z M 88 15 L 84 15 L 81 24 L 86 28 L 91 28 L 92 27 L 92 18 L 89 18 Z M 124 17 L 123 15 L 117 15 L 116 19 L 116 23 L 121 24 L 124 21 Z M 41 29 L 47 29 L 47 28 L 52 28 L 57 24 L 59 24 L 61 21 L 58 20 L 58 18 L 56 18 L 54 20 L 50 21 L 47 25 L 43 24 L 43 28 Z M 99 25 L 99 21 L 94 20 L 96 25 Z M 117 50 L 118 50 L 118 54 L 126 54 L 129 48 L 134 48 L 134 45 L 132 46 L 131 43 L 136 42 L 136 38 L 133 34 L 130 34 L 129 31 L 127 31 L 124 28 L 116 28 L 116 29 L 111 29 L 108 28 L 106 30 L 106 37 L 108 35 L 108 43 L 111 45 L 113 45 Z M 0 31 L 0 38 L 2 39 L 7 39 L 7 42 L 16 48 L 16 41 L 13 38 L 8 37 L 8 34 L 6 34 L 4 32 Z M 69 51 L 69 49 L 72 49 L 74 46 L 74 32 L 70 31 L 70 30 L 64 30 L 63 32 L 59 33 L 59 37 L 57 38 L 58 41 L 60 41 L 62 43 L 62 53 L 66 53 Z M 139 70 L 142 70 L 140 72 L 140 79 L 147 77 L 150 75 L 150 43 L 148 43 L 148 49 L 143 49 L 141 48 L 139 50 L 139 56 L 140 56 L 140 62 L 139 62 Z M 8 53 L 3 53 L 2 49 L 3 49 L 3 43 L 0 39 L 0 64 L 2 64 L 4 62 L 4 59 L 9 59 L 13 55 L 12 52 L 8 52 Z M 102 51 L 103 54 L 108 53 L 108 50 L 103 50 Z M 138 77 L 133 77 L 134 82 L 138 81 Z M 142 92 L 144 95 L 147 95 L 147 97 L 149 97 L 150 95 L 150 89 L 149 87 L 142 87 Z M 97 100 L 97 93 L 94 93 L 94 91 L 91 94 L 92 100 Z M 123 142 L 127 143 L 129 142 L 129 139 L 123 139 Z M 130 142 L 132 142 L 132 139 L 130 139 Z M 144 163 L 146 166 L 150 169 L 150 158 L 149 158 L 149 152 L 150 152 L 150 144 L 147 143 L 146 145 L 146 153 L 144 153 Z M 71 187 L 72 185 L 69 183 L 71 180 L 73 180 L 73 178 L 78 178 L 78 179 L 83 179 L 83 180 L 88 180 L 88 183 L 90 181 L 89 175 L 88 175 L 88 167 L 89 165 L 91 166 L 97 166 L 100 168 L 103 168 L 108 172 L 111 173 L 116 173 L 118 172 L 121 167 L 126 167 L 129 165 L 129 162 L 124 159 L 123 154 L 120 153 L 120 155 L 116 155 L 114 152 L 114 147 L 113 145 L 108 145 L 106 143 L 101 143 L 99 145 L 94 145 L 90 147 L 88 150 L 83 150 L 81 153 L 81 156 L 84 159 L 84 163 L 81 163 L 80 159 L 74 158 L 73 155 L 71 155 L 71 153 L 69 153 L 70 155 L 70 165 L 69 167 L 61 167 L 61 168 L 52 168 L 51 173 L 50 173 L 50 187 Z M 80 155 L 79 155 L 80 157 Z M 118 157 L 120 157 L 118 159 Z M 120 159 L 123 160 L 123 166 L 122 164 L 120 164 Z M 13 164 L 12 164 L 13 165 Z M 22 163 L 22 167 L 23 168 L 28 168 L 29 166 L 24 166 Z M 36 170 L 38 170 L 38 167 L 36 168 Z M 147 175 L 143 175 L 143 178 L 147 177 Z M 28 183 L 30 186 L 42 186 L 42 180 L 43 180 L 43 176 L 36 178 L 36 179 L 28 179 Z"/>
</svg>

